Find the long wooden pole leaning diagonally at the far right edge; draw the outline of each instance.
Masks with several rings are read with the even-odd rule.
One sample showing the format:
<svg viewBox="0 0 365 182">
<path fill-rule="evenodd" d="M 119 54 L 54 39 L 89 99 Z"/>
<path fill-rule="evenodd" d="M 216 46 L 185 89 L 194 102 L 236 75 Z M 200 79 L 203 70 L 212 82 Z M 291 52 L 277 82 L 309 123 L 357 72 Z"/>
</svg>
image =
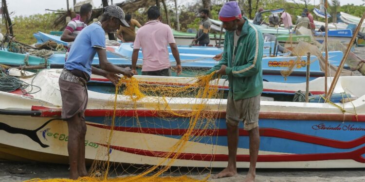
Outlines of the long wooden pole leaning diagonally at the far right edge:
<svg viewBox="0 0 365 182">
<path fill-rule="evenodd" d="M 343 57 L 343 58 L 342 58 L 342 60 L 341 60 L 340 66 L 338 66 L 338 68 L 337 68 L 337 71 L 336 71 L 336 74 L 335 74 L 335 76 L 334 76 L 334 78 L 333 78 L 333 81 L 332 81 L 332 83 L 331 83 L 331 86 L 329 87 L 328 97 L 326 98 L 326 101 L 331 99 L 331 96 L 332 96 L 332 93 L 333 93 L 334 87 L 336 86 L 337 81 L 338 81 L 338 78 L 339 78 L 339 77 L 340 77 L 340 75 L 341 75 L 342 69 L 344 68 L 345 62 L 346 62 L 346 60 L 347 60 L 347 56 L 348 56 L 348 54 L 349 54 L 349 53 L 350 53 L 350 51 L 351 51 L 351 47 L 352 47 L 352 45 L 353 45 L 353 44 L 354 44 L 354 42 L 355 42 L 355 39 L 356 39 L 357 33 L 359 33 L 359 30 L 360 30 L 360 28 L 361 28 L 361 25 L 363 24 L 364 18 L 365 18 L 365 12 L 364 12 L 364 14 L 363 14 L 363 17 L 361 17 L 360 22 L 359 22 L 359 24 L 357 25 L 357 27 L 356 27 L 356 29 L 355 29 L 355 32 L 352 34 L 351 41 L 350 41 L 350 43 L 349 43 L 349 44 L 348 44 L 348 46 L 347 46 L 347 50 L 346 50 L 346 52 L 345 52 L 344 57 Z"/>
</svg>

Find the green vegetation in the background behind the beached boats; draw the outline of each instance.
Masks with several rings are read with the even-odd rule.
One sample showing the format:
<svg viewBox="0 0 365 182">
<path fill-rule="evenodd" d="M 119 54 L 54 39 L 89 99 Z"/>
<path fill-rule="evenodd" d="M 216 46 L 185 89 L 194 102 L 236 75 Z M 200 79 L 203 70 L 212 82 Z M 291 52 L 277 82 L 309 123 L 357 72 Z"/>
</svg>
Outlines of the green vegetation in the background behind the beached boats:
<svg viewBox="0 0 365 182">
<path fill-rule="evenodd" d="M 246 12 L 246 17 L 250 17 L 247 15 L 248 11 L 248 1 L 244 1 L 245 4 L 241 5 L 242 9 Z M 258 4 L 256 5 L 256 2 Z M 276 9 L 276 8 L 284 8 L 289 14 L 292 15 L 292 21 L 296 21 L 296 16 L 300 16 L 303 9 L 305 8 L 304 4 L 296 4 L 292 1 L 287 0 L 253 0 L 252 1 L 252 13 L 251 17 L 255 16 L 256 7 L 264 7 L 265 9 Z M 331 5 L 331 4 L 330 4 Z M 315 6 L 309 4 L 308 9 L 311 11 Z M 189 28 L 198 29 L 199 21 L 201 18 L 199 17 L 199 10 L 202 8 L 201 1 L 196 1 L 196 3 L 189 4 L 187 6 L 179 6 L 179 20 L 180 20 L 180 29 L 182 32 L 185 32 Z M 211 16 L 213 19 L 218 19 L 218 13 L 221 8 L 221 4 L 212 4 L 211 5 Z M 318 6 L 317 6 L 318 8 Z M 176 17 L 175 17 L 175 7 L 170 4 L 168 7 L 168 14 L 171 20 L 171 27 L 176 29 Z M 329 10 L 333 11 L 335 9 L 337 12 L 346 12 L 350 15 L 354 15 L 356 17 L 361 17 L 365 12 L 365 6 L 355 6 L 353 4 L 347 4 L 338 6 L 337 8 L 330 7 Z M 142 25 L 147 21 L 146 15 L 147 8 L 140 8 L 138 11 L 133 13 L 133 18 L 137 19 Z M 163 22 L 167 23 L 167 20 L 163 13 Z M 324 21 L 323 18 L 318 18 L 312 13 L 315 20 Z M 267 15 L 268 16 L 268 15 Z M 14 34 L 16 35 L 16 39 L 25 44 L 33 44 L 36 42 L 36 39 L 33 37 L 33 33 L 38 31 L 50 33 L 50 31 L 59 30 L 61 27 L 53 27 L 53 23 L 58 17 L 55 13 L 48 13 L 44 15 L 32 15 L 29 17 L 14 17 L 12 18 L 12 23 L 15 24 L 13 26 Z M 332 19 L 329 20 L 331 22 Z M 3 21 L 2 21 L 3 23 Z M 5 34 L 5 26 L 2 24 L 1 33 Z"/>
</svg>

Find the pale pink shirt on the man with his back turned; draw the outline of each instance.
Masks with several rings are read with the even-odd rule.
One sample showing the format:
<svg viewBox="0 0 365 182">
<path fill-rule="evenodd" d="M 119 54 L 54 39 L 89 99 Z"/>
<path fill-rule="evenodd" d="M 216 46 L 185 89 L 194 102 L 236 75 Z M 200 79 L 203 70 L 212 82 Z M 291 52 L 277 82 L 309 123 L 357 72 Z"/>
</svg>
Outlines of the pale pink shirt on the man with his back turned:
<svg viewBox="0 0 365 182">
<path fill-rule="evenodd" d="M 142 48 L 142 71 L 157 71 L 171 66 L 167 46 L 175 43 L 171 28 L 158 20 L 148 21 L 138 29 L 134 48 Z"/>
</svg>

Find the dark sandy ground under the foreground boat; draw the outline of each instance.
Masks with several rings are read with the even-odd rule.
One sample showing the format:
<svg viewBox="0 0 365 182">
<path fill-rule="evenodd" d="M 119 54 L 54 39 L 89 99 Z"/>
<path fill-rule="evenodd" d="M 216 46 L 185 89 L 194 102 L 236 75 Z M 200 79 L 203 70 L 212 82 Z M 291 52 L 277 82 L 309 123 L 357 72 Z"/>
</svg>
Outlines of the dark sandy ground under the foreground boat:
<svg viewBox="0 0 365 182">
<path fill-rule="evenodd" d="M 365 60 L 365 47 L 355 48 L 354 53 Z M 44 163 L 18 163 L 0 161 L 0 182 L 22 182 L 34 178 L 68 178 L 68 165 Z M 213 169 L 212 175 L 222 169 Z M 187 169 L 186 169 L 187 171 Z M 183 171 L 182 171 L 183 173 Z M 198 171 L 196 171 L 198 173 Z M 210 182 L 241 182 L 247 169 L 239 169 L 231 178 L 209 179 Z M 173 174 L 173 175 L 179 175 Z M 193 175 L 203 179 L 208 173 Z M 257 169 L 256 182 L 365 182 L 365 168 L 361 169 Z"/>
</svg>

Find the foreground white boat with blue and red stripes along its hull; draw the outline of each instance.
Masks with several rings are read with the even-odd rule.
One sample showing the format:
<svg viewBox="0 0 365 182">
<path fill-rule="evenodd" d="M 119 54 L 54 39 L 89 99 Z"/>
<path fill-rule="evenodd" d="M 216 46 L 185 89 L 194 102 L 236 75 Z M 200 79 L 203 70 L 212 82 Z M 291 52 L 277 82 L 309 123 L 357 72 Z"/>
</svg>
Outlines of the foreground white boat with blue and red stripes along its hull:
<svg viewBox="0 0 365 182">
<path fill-rule="evenodd" d="M 68 130 L 59 119 L 61 97 L 58 88 L 60 70 L 43 70 L 36 78 L 24 82 L 40 86 L 35 94 L 22 95 L 0 92 L 0 154 L 13 159 L 67 164 Z M 194 80 L 181 77 L 137 76 L 154 84 L 189 84 Z M 103 81 L 101 78 L 93 80 Z M 227 83 L 221 80 L 220 86 Z M 310 90 L 323 93 L 323 78 L 310 83 Z M 357 83 L 357 84 L 353 84 Z M 111 83 L 107 83 L 111 84 Z M 261 101 L 261 144 L 257 159 L 258 168 L 353 168 L 365 167 L 365 92 L 358 85 L 365 77 L 341 77 L 335 93 L 346 92 L 358 99 L 337 103 L 349 114 L 329 103 L 299 103 L 290 101 Z M 303 90 L 305 84 L 264 83 L 265 91 L 272 96 Z M 104 85 L 100 90 L 112 90 Z M 277 90 L 275 90 L 277 89 Z M 277 93 L 280 91 L 280 93 Z M 95 159 L 98 151 L 106 151 L 106 138 L 110 126 L 103 124 L 113 112 L 106 94 L 89 86 L 86 158 Z M 110 161 L 116 163 L 156 165 L 162 154 L 168 152 L 186 131 L 189 119 L 176 115 L 160 117 L 156 104 L 160 97 L 147 96 L 133 101 L 120 95 L 117 98 L 117 119 L 110 143 Z M 168 106 L 176 112 L 192 112 L 199 98 L 167 98 Z M 183 105 L 183 108 L 182 108 Z M 136 107 L 135 107 L 136 106 Z M 161 107 L 162 111 L 164 111 Z M 228 160 L 225 128 L 226 99 L 209 99 L 206 109 L 217 114 L 213 128 L 204 131 L 210 135 L 198 136 L 199 141 L 188 141 L 173 166 L 225 167 Z M 138 115 L 140 125 L 133 118 Z M 166 118 L 170 119 L 166 119 Z M 162 119 L 165 118 L 165 119 Z M 200 129 L 197 129 L 200 130 Z M 126 139 L 128 138 L 128 140 Z M 148 140 L 146 140 L 148 138 Z M 164 145 L 161 145 L 164 144 Z M 248 133 L 239 130 L 237 167 L 249 166 Z M 213 151 L 213 152 L 212 152 Z M 3 155 L 4 156 L 4 155 Z M 3 157 L 2 156 L 2 157 Z M 163 164 L 164 165 L 164 164 Z"/>
</svg>

